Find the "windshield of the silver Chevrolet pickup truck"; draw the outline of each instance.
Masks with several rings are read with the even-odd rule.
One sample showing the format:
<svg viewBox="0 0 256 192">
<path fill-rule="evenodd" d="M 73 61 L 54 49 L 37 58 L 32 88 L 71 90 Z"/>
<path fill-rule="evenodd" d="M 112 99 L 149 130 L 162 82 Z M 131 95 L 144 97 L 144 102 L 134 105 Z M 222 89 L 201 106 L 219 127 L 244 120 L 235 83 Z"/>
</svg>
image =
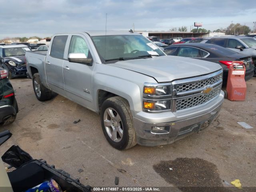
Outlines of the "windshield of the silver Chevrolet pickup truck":
<svg viewBox="0 0 256 192">
<path fill-rule="evenodd" d="M 141 58 L 165 55 L 157 46 L 142 35 L 92 36 L 98 54 L 105 61 L 118 58 Z M 106 46 L 105 46 L 106 42 Z"/>
</svg>

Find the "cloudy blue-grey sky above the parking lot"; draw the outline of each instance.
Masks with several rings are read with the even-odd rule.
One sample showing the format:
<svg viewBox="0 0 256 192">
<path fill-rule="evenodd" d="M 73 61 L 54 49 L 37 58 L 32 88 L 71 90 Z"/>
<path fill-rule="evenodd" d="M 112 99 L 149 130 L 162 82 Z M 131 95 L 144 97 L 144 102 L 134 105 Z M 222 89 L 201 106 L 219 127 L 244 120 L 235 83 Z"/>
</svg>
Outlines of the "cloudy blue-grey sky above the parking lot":
<svg viewBox="0 0 256 192">
<path fill-rule="evenodd" d="M 0 0 L 0 39 L 104 30 L 166 31 L 202 22 L 215 30 L 233 23 L 253 29 L 255 0 Z"/>
</svg>

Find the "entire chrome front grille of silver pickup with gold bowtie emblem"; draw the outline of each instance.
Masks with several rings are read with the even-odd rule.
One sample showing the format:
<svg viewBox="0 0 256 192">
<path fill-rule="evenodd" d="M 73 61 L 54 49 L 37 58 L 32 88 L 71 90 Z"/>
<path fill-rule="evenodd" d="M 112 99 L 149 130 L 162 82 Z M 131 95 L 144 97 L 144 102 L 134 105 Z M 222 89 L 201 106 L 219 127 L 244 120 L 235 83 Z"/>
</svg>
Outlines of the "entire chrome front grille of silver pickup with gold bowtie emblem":
<svg viewBox="0 0 256 192">
<path fill-rule="evenodd" d="M 204 76 L 176 80 L 172 82 L 172 87 L 173 112 L 205 104 L 220 94 L 222 70 Z"/>
</svg>

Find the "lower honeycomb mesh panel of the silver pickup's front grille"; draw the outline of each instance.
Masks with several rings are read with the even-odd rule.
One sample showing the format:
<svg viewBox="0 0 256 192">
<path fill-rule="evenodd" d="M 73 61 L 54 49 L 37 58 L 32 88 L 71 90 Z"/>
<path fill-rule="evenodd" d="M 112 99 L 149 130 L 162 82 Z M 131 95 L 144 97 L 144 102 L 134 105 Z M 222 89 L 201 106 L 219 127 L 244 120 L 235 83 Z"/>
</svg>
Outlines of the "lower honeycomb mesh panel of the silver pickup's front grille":
<svg viewBox="0 0 256 192">
<path fill-rule="evenodd" d="M 214 90 L 211 90 L 208 94 L 201 94 L 198 96 L 191 96 L 188 98 L 177 99 L 176 110 L 187 109 L 190 107 L 198 106 L 204 104 L 214 97 L 220 94 L 221 86 L 218 86 Z"/>
</svg>

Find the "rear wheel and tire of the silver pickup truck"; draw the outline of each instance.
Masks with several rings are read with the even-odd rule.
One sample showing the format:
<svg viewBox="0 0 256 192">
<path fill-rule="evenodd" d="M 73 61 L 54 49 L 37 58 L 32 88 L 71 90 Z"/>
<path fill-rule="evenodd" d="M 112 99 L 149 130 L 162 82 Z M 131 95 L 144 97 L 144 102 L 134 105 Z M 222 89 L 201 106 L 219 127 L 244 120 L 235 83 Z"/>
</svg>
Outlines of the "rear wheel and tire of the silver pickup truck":
<svg viewBox="0 0 256 192">
<path fill-rule="evenodd" d="M 32 78 L 33 82 L 33 89 L 34 93 L 36 95 L 36 98 L 40 101 L 47 101 L 52 98 L 52 91 L 48 88 L 46 88 L 41 80 L 39 73 L 35 73 Z"/>
</svg>

